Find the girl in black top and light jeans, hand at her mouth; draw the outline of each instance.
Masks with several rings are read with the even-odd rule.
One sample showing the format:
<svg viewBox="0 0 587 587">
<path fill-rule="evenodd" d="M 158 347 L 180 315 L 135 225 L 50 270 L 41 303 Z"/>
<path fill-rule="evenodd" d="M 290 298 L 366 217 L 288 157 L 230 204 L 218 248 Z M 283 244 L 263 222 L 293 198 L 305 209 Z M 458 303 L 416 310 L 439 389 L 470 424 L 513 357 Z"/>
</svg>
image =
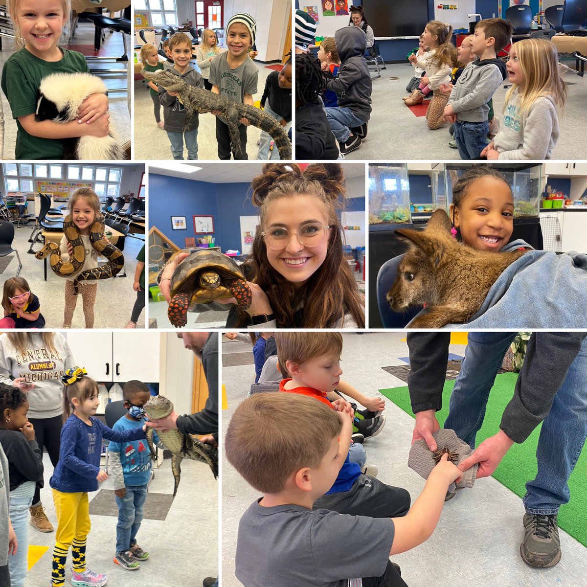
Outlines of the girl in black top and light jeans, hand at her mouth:
<svg viewBox="0 0 587 587">
<path fill-rule="evenodd" d="M 29 545 L 28 510 L 37 483 L 43 484 L 41 448 L 35 440 L 35 428 L 26 413 L 26 393 L 0 383 L 0 444 L 8 458 L 10 478 L 9 514 L 18 549 L 8 556 L 12 587 L 24 587 Z"/>
</svg>

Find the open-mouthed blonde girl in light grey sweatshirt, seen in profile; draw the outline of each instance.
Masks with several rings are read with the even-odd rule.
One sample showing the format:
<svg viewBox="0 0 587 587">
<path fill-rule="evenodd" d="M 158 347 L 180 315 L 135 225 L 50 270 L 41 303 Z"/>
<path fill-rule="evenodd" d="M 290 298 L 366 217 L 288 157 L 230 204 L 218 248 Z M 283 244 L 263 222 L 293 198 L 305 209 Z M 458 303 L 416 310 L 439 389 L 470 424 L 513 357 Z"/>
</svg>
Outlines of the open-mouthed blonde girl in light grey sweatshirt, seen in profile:
<svg viewBox="0 0 587 587">
<path fill-rule="evenodd" d="M 510 49 L 507 70 L 513 85 L 505 96 L 504 120 L 481 157 L 549 159 L 566 99 L 556 47 L 542 39 L 518 41 Z"/>
</svg>

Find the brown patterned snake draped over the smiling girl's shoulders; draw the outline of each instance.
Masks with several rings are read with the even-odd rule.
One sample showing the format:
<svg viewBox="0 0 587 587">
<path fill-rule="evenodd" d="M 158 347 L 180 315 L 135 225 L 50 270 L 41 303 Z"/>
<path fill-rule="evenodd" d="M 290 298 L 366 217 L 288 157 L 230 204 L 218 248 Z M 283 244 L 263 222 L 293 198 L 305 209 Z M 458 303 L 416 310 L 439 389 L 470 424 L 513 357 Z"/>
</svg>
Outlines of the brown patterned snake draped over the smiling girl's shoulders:
<svg viewBox="0 0 587 587">
<path fill-rule="evenodd" d="M 37 259 L 44 259 L 49 257 L 49 264 L 51 269 L 59 277 L 68 277 L 79 271 L 86 260 L 86 249 L 83 246 L 82 237 L 77 230 L 75 224 L 71 219 L 71 215 L 67 215 L 63 221 L 63 232 L 65 238 L 71 243 L 73 247 L 73 255 L 71 255 L 69 262 L 64 262 L 61 259 L 61 249 L 56 242 L 48 242 L 41 251 L 35 253 Z M 97 279 L 106 279 L 114 277 L 120 269 L 124 266 L 124 256 L 119 249 L 104 236 L 104 217 L 102 214 L 97 214 L 92 227 L 90 227 L 90 242 L 92 247 L 108 259 L 105 265 L 96 267 L 95 269 L 86 269 L 76 276 L 73 281 L 73 289 L 75 294 L 79 292 L 80 281 L 95 281 Z"/>
</svg>

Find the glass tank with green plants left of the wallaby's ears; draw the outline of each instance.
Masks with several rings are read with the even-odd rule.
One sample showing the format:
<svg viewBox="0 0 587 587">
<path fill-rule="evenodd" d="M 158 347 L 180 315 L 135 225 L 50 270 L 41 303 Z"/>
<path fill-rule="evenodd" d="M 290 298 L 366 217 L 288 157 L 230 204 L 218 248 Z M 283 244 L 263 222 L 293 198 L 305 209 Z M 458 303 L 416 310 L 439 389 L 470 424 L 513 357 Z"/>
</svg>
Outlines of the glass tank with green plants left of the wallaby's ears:
<svg viewBox="0 0 587 587">
<path fill-rule="evenodd" d="M 410 181 L 406 163 L 369 165 L 369 230 L 410 224 Z"/>
</svg>

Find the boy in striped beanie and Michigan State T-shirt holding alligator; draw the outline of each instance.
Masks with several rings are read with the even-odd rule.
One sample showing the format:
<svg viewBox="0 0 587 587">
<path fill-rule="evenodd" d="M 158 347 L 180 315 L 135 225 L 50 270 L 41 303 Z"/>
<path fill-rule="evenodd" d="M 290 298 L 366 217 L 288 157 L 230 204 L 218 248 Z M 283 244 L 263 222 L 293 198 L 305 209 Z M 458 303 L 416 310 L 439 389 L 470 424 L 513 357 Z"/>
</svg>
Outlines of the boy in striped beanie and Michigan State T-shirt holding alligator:
<svg viewBox="0 0 587 587">
<path fill-rule="evenodd" d="M 210 62 L 210 83 L 212 92 L 220 94 L 241 104 L 253 105 L 253 94 L 257 92 L 259 70 L 248 56 L 248 49 L 255 43 L 257 23 L 252 16 L 241 12 L 235 14 L 227 24 L 226 43 L 228 51 L 215 56 Z M 218 141 L 218 158 L 248 159 L 247 156 L 247 126 L 246 118 L 241 119 L 238 131 L 241 139 L 241 154 L 231 149 L 228 125 L 223 116 L 217 111 L 216 140 Z"/>
</svg>

